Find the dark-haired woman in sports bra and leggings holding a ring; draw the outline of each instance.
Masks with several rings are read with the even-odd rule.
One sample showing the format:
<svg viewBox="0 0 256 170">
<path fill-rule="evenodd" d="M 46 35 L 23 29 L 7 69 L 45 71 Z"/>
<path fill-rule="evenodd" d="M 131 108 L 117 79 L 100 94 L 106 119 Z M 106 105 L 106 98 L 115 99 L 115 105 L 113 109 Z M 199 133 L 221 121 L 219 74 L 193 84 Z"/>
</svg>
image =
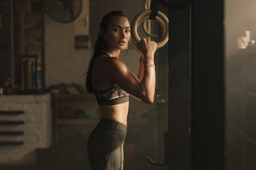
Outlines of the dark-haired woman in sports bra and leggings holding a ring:
<svg viewBox="0 0 256 170">
<path fill-rule="evenodd" d="M 101 116 L 87 143 L 92 170 L 123 169 L 129 95 L 144 103 L 154 101 L 156 42 L 143 39 L 137 45 L 141 63 L 136 77 L 118 59 L 130 38 L 129 21 L 122 11 L 102 18 L 86 79 L 87 91 L 95 94 Z"/>
</svg>

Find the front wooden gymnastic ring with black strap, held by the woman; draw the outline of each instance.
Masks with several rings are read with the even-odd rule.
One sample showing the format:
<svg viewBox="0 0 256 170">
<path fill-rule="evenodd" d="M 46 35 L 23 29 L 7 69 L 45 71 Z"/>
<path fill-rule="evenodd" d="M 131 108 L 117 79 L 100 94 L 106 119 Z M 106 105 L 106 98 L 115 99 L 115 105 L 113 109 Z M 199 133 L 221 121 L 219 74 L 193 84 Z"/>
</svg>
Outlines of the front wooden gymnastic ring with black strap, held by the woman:
<svg viewBox="0 0 256 170">
<path fill-rule="evenodd" d="M 142 39 L 139 38 L 137 28 L 139 27 L 139 24 L 142 23 L 143 21 L 149 19 L 149 16 L 151 15 L 151 10 L 144 10 L 141 11 L 140 13 L 135 16 L 134 20 L 132 21 L 132 40 L 135 44 L 139 43 Z M 161 21 L 162 22 L 161 22 Z M 163 47 L 166 42 L 169 40 L 169 20 L 168 18 L 164 15 L 164 13 L 161 13 L 161 11 L 158 12 L 158 15 L 156 16 L 156 21 L 160 23 L 164 23 L 164 25 L 161 25 L 163 35 L 161 37 L 160 42 L 156 43 L 156 48 Z"/>
</svg>

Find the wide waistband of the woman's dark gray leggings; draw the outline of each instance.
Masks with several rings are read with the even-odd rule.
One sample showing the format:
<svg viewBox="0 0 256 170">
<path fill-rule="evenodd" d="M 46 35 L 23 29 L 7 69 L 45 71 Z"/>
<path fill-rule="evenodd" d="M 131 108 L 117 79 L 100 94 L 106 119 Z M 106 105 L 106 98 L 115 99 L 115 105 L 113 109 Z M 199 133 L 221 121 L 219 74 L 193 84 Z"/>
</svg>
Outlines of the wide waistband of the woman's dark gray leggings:
<svg viewBox="0 0 256 170">
<path fill-rule="evenodd" d="M 127 125 L 123 123 L 119 123 L 114 120 L 110 120 L 107 118 L 100 118 L 100 122 L 98 123 L 99 126 L 104 126 L 105 128 L 111 128 L 115 130 L 122 130 L 123 132 L 127 132 Z"/>
</svg>

